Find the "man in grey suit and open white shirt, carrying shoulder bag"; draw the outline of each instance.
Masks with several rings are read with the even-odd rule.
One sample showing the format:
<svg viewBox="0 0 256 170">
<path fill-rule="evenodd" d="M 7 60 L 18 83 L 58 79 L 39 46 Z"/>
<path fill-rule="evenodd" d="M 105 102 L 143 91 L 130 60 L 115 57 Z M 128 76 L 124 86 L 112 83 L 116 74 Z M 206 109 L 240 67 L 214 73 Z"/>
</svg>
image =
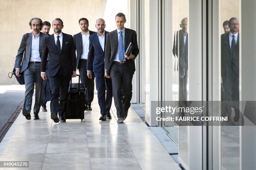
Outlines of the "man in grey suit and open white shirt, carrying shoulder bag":
<svg viewBox="0 0 256 170">
<path fill-rule="evenodd" d="M 38 120 L 38 112 L 42 104 L 43 80 L 41 78 L 41 55 L 42 42 L 48 35 L 40 32 L 42 30 L 43 21 L 40 18 L 32 18 L 29 22 L 30 28 L 33 32 L 24 34 L 20 42 L 20 47 L 15 59 L 15 74 L 20 76 L 24 74 L 25 79 L 25 100 L 22 114 L 27 120 L 31 119 L 30 111 L 32 105 L 32 97 L 34 86 L 36 86 L 35 105 L 34 105 L 34 120 Z M 27 44 L 26 44 L 27 39 Z M 26 44 L 26 47 L 25 47 Z M 24 56 L 23 51 L 25 48 Z"/>
</svg>

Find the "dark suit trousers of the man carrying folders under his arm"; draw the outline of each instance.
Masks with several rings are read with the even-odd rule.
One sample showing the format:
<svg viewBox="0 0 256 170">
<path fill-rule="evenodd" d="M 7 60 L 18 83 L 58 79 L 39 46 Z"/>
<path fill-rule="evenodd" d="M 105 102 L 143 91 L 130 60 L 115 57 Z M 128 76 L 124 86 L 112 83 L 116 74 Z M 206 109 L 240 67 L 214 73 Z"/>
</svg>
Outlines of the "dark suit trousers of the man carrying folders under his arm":
<svg viewBox="0 0 256 170">
<path fill-rule="evenodd" d="M 128 112 L 131 106 L 133 74 L 129 72 L 126 63 L 113 62 L 110 76 L 112 79 L 116 114 L 118 118 L 123 118 L 124 112 Z"/>
</svg>

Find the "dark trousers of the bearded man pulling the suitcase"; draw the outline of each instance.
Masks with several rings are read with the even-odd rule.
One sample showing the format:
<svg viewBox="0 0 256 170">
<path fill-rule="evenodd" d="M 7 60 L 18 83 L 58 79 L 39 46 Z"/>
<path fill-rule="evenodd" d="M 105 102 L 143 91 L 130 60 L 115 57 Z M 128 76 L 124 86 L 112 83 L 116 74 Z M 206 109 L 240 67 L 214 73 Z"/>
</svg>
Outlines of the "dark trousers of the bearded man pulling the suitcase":
<svg viewBox="0 0 256 170">
<path fill-rule="evenodd" d="M 67 110 L 67 95 L 68 87 L 71 79 L 70 76 L 61 75 L 59 70 L 55 76 L 49 76 L 51 87 L 51 112 L 59 113 L 59 116 L 64 116 Z"/>
</svg>

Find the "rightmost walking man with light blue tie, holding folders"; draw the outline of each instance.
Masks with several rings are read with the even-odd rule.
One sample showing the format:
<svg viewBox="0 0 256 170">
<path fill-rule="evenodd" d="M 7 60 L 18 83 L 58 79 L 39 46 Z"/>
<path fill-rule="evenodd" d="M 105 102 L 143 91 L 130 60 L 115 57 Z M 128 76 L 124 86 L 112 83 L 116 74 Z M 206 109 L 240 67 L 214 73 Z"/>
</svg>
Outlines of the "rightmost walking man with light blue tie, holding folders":
<svg viewBox="0 0 256 170">
<path fill-rule="evenodd" d="M 117 30 L 107 35 L 105 50 L 105 77 L 112 79 L 113 97 L 117 110 L 118 123 L 123 123 L 131 106 L 132 79 L 135 72 L 134 60 L 138 55 L 137 34 L 124 27 L 125 15 L 115 15 Z M 129 43 L 133 44 L 130 55 L 125 55 Z"/>
</svg>

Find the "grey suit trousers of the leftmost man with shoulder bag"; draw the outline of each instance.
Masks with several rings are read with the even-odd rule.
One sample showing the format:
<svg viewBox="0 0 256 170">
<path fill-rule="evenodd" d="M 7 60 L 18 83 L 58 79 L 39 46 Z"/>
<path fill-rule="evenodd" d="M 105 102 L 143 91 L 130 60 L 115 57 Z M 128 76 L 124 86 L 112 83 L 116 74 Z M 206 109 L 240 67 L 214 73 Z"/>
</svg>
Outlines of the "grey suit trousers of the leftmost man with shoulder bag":
<svg viewBox="0 0 256 170">
<path fill-rule="evenodd" d="M 34 87 L 36 87 L 34 113 L 40 111 L 42 104 L 42 93 L 43 93 L 43 79 L 41 78 L 41 63 L 29 63 L 26 70 L 23 72 L 25 80 L 25 100 L 23 108 L 31 111 L 32 97 L 34 93 Z"/>
</svg>

